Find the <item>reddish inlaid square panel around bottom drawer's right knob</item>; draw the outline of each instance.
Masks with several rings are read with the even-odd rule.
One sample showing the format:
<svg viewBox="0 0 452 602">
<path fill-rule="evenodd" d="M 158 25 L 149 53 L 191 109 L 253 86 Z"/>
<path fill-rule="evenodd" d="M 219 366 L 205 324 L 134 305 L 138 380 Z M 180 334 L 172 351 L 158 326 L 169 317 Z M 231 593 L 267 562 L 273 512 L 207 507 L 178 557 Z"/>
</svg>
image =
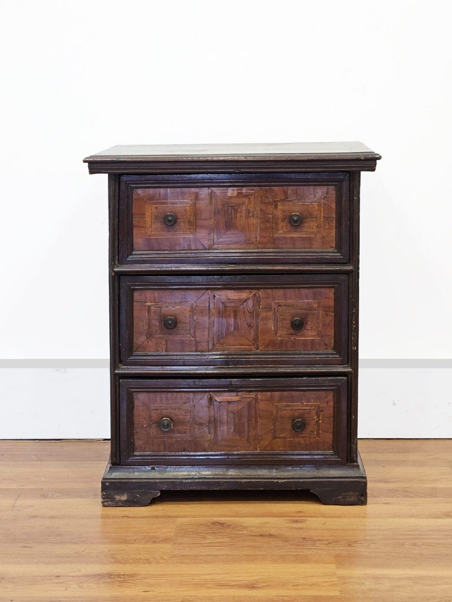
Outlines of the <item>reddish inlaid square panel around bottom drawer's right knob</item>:
<svg viewBox="0 0 452 602">
<path fill-rule="evenodd" d="M 333 449 L 334 392 L 274 391 L 259 394 L 259 449 Z M 301 420 L 297 432 L 293 421 Z"/>
</svg>

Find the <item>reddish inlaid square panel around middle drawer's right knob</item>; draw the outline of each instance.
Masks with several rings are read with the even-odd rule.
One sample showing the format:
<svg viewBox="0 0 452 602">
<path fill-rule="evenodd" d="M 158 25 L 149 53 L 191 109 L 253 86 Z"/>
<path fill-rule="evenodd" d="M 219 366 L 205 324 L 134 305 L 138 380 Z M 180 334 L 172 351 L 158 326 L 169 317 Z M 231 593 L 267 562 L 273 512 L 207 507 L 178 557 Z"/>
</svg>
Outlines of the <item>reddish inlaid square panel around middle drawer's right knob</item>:
<svg viewBox="0 0 452 602">
<path fill-rule="evenodd" d="M 292 320 L 301 320 L 299 330 Z M 259 348 L 266 351 L 334 349 L 334 289 L 260 291 Z"/>
</svg>

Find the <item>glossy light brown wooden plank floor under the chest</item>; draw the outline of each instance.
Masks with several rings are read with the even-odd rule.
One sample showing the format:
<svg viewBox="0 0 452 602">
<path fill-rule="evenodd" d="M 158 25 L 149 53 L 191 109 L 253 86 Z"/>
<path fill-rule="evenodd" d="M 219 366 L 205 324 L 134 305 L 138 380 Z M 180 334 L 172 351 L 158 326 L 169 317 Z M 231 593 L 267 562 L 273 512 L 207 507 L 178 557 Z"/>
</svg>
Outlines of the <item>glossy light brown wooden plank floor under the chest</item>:
<svg viewBox="0 0 452 602">
<path fill-rule="evenodd" d="M 452 440 L 361 441 L 368 506 L 162 494 L 102 508 L 105 442 L 0 442 L 0 600 L 452 601 Z"/>
</svg>

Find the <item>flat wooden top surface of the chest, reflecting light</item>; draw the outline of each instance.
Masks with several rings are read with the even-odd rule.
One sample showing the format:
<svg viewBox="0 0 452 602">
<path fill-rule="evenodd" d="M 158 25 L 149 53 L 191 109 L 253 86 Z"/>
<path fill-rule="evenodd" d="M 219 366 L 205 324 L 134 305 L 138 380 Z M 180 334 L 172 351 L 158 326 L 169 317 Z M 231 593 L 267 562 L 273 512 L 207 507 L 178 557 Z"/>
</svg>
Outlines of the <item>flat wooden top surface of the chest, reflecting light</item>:
<svg viewBox="0 0 452 602">
<path fill-rule="evenodd" d="M 314 161 L 378 160 L 362 142 L 290 142 L 269 144 L 127 144 L 86 157 L 84 163 L 115 161 Z"/>
</svg>

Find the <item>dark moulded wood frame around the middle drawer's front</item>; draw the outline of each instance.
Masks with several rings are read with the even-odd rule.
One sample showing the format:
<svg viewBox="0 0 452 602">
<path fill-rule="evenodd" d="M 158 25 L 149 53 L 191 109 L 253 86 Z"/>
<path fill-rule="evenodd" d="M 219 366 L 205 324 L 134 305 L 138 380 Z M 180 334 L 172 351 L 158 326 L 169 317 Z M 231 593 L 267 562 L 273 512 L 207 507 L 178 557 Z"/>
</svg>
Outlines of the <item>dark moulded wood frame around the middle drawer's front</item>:
<svg viewBox="0 0 452 602">
<path fill-rule="evenodd" d="M 120 281 L 119 340 L 122 365 L 273 365 L 286 366 L 347 364 L 348 340 L 348 276 L 313 274 L 275 276 L 122 276 Z M 334 287 L 334 351 L 331 352 L 198 352 L 198 353 L 134 353 L 133 291 L 146 289 L 209 288 L 315 288 Z"/>
</svg>

